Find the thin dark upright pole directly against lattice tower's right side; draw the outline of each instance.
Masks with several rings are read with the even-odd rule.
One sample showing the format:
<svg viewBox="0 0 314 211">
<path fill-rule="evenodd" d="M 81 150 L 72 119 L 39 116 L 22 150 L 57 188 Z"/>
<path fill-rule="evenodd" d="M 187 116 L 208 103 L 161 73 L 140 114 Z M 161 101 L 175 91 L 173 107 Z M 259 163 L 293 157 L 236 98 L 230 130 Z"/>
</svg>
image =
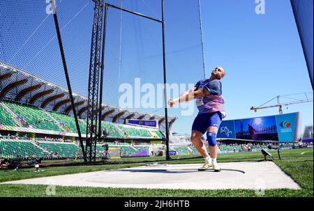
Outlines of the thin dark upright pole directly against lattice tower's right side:
<svg viewBox="0 0 314 211">
<path fill-rule="evenodd" d="M 101 49 L 101 70 L 100 70 L 100 96 L 99 96 L 99 123 L 98 123 L 98 139 L 101 137 L 101 116 L 102 116 L 102 107 L 103 102 L 103 68 L 105 60 L 105 35 L 106 35 L 106 26 L 107 26 L 107 3 L 105 4 L 105 17 L 103 25 L 103 49 Z"/>
</svg>

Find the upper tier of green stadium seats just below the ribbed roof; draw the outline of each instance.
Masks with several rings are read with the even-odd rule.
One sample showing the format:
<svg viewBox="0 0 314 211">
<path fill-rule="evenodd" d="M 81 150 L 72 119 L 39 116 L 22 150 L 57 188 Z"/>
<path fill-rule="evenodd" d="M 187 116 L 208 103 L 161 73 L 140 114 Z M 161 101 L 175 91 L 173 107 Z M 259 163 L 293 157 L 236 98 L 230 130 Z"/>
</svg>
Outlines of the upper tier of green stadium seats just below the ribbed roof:
<svg viewBox="0 0 314 211">
<path fill-rule="evenodd" d="M 86 134 L 87 123 L 85 120 L 79 119 L 79 125 L 81 133 Z M 0 101 L 0 130 L 8 130 L 6 129 L 7 126 L 25 127 L 28 129 L 27 132 L 31 129 L 32 132 L 45 133 L 46 131 L 47 134 L 51 134 L 51 132 L 54 132 L 54 134 L 55 132 L 58 132 L 58 134 L 59 132 L 77 134 L 75 118 L 73 116 L 61 114 L 56 111 L 45 111 L 24 104 Z M 109 137 L 164 138 L 164 135 L 157 129 L 121 125 L 107 121 L 102 122 L 102 129 L 109 130 Z"/>
</svg>

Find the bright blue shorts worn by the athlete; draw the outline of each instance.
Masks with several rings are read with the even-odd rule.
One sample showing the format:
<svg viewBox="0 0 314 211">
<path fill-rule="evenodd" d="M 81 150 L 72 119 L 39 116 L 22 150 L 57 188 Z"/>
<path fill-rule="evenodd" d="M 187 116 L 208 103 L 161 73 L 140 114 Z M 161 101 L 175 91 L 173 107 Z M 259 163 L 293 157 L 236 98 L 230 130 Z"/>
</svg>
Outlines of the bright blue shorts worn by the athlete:
<svg viewBox="0 0 314 211">
<path fill-rule="evenodd" d="M 197 114 L 192 125 L 192 130 L 197 130 L 204 134 L 207 132 L 208 127 L 219 128 L 222 119 L 223 116 L 219 111 L 214 113 Z"/>
</svg>

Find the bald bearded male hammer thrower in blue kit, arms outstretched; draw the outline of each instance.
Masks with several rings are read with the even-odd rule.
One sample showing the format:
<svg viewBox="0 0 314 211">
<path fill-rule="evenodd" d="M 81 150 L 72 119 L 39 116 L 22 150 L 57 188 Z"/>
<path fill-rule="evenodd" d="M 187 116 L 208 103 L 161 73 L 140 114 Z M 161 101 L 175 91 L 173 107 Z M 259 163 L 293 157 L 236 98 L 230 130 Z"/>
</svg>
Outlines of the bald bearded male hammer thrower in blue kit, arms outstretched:
<svg viewBox="0 0 314 211">
<path fill-rule="evenodd" d="M 170 107 L 174 107 L 177 103 L 196 99 L 199 112 L 193 122 L 190 139 L 205 160 L 205 164 L 198 169 L 199 171 L 209 169 L 211 166 L 214 171 L 221 170 L 217 164 L 218 146 L 216 143 L 216 134 L 221 120 L 225 118 L 225 100 L 222 96 L 222 84 L 220 82 L 220 79 L 224 76 L 225 70 L 217 67 L 211 72 L 209 79 L 198 81 L 194 88 L 186 91 L 180 97 L 168 101 Z M 205 132 L 207 133 L 210 156 L 207 153 L 206 146 L 201 141 Z"/>
</svg>

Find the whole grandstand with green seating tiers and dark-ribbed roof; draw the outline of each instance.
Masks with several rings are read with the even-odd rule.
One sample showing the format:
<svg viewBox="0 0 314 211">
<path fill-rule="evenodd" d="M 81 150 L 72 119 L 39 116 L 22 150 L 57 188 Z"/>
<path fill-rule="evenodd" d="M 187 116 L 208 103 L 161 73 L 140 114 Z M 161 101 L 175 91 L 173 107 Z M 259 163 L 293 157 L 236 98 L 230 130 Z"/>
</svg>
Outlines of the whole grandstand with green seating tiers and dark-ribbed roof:
<svg viewBox="0 0 314 211">
<path fill-rule="evenodd" d="M 78 132 L 73 108 L 68 102 L 68 90 L 3 61 L 0 61 L 0 72 L 3 76 L 0 84 L 0 158 L 27 159 L 35 156 L 33 158 L 36 159 L 81 159 L 80 146 L 75 142 L 78 141 Z M 18 84 L 21 80 L 26 82 L 11 88 L 10 84 Z M 85 141 L 88 98 L 78 93 L 73 95 L 82 141 Z M 150 155 L 149 139 L 165 139 L 165 134 L 161 131 L 165 129 L 164 116 L 131 109 L 124 110 L 124 115 L 119 116 L 119 107 L 106 103 L 102 105 L 102 130 L 108 130 L 107 138 L 110 141 L 119 143 L 110 144 L 110 147 L 114 150 L 121 149 L 122 156 Z M 119 118 L 114 118 L 115 116 Z M 161 130 L 142 125 L 125 125 L 130 117 L 141 120 L 154 117 L 156 126 Z M 173 123 L 176 119 L 177 117 L 168 116 L 168 123 Z M 124 141 L 138 140 L 147 143 L 147 147 L 121 145 Z M 103 154 L 103 146 L 97 145 L 96 157 L 102 157 Z"/>
</svg>

